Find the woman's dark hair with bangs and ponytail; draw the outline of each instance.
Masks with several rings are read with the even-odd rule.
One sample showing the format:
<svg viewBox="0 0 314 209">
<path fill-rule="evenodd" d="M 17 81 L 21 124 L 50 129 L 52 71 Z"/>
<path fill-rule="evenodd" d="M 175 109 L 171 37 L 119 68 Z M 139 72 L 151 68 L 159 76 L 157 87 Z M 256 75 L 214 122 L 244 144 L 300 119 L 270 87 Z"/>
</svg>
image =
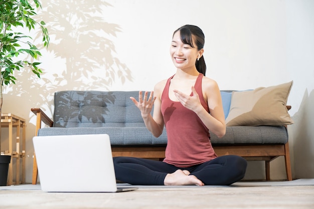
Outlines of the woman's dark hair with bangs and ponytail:
<svg viewBox="0 0 314 209">
<path fill-rule="evenodd" d="M 203 31 L 199 27 L 193 26 L 193 25 L 182 26 L 181 28 L 177 29 L 174 32 L 173 36 L 178 31 L 180 31 L 181 41 L 184 44 L 188 44 L 191 47 L 195 48 L 195 46 L 193 46 L 193 41 L 192 41 L 192 35 L 194 35 L 197 49 L 201 50 L 204 48 L 205 36 L 204 36 Z M 200 60 L 195 62 L 195 66 L 196 66 L 197 71 L 204 74 L 205 76 L 206 64 L 205 64 L 204 56 L 200 57 Z"/>
</svg>

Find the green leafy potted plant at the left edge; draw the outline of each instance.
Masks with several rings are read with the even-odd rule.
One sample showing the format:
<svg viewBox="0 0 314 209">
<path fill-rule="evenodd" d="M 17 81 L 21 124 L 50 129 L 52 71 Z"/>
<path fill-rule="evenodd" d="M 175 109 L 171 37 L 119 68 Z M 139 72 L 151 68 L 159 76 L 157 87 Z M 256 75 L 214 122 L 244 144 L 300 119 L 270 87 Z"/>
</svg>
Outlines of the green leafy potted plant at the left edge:
<svg viewBox="0 0 314 209">
<path fill-rule="evenodd" d="M 6 0 L 0 4 L 0 115 L 3 104 L 3 87 L 11 83 L 15 84 L 17 79 L 14 73 L 23 69 L 31 69 L 39 78 L 42 73 L 42 70 L 38 68 L 40 63 L 34 61 L 41 56 L 39 49 L 32 43 L 34 39 L 20 32 L 26 31 L 25 29 L 29 32 L 36 32 L 39 29 L 44 47 L 48 47 L 49 35 L 45 23 L 33 19 L 37 15 L 37 8 L 41 8 L 39 0 L 33 0 L 32 3 L 30 0 Z"/>
</svg>

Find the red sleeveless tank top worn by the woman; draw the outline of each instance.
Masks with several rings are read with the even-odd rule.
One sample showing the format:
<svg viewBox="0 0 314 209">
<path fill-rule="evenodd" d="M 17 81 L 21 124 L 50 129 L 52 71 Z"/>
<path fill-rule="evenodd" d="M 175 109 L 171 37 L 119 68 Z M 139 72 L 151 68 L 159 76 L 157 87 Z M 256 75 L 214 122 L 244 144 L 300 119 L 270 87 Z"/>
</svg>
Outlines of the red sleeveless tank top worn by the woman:
<svg viewBox="0 0 314 209">
<path fill-rule="evenodd" d="M 209 112 L 202 93 L 203 74 L 199 74 L 195 82 L 195 90 L 199 95 L 201 104 Z M 210 142 L 208 128 L 195 112 L 185 108 L 180 102 L 169 98 L 168 79 L 162 94 L 162 114 L 168 135 L 166 158 L 164 162 L 178 167 L 190 167 L 217 157 Z M 191 96 L 193 93 L 191 93 Z"/>
</svg>

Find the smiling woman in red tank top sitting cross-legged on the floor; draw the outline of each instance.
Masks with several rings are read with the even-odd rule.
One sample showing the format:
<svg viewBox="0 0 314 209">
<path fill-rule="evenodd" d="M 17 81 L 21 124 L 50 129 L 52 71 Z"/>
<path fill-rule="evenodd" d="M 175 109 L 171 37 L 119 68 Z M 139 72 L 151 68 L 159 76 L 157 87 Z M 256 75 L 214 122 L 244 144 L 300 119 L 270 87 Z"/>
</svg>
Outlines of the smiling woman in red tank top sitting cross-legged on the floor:
<svg viewBox="0 0 314 209">
<path fill-rule="evenodd" d="M 166 126 L 164 161 L 114 157 L 118 180 L 142 185 L 229 185 L 243 178 L 247 162 L 235 155 L 218 157 L 209 130 L 222 137 L 225 117 L 217 83 L 205 77 L 204 34 L 186 25 L 174 32 L 170 55 L 177 72 L 139 92 L 138 107 L 147 129 L 159 137 Z M 150 111 L 152 106 L 153 116 Z"/>
</svg>

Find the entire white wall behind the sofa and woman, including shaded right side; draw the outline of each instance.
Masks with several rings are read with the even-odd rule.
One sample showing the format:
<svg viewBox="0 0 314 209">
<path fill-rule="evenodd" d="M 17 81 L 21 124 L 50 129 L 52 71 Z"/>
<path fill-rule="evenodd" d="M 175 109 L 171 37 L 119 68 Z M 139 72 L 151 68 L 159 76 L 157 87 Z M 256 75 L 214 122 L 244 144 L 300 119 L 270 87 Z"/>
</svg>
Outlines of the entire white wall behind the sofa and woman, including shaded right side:
<svg viewBox="0 0 314 209">
<path fill-rule="evenodd" d="M 51 117 L 59 90 L 152 90 L 176 71 L 169 46 L 173 32 L 197 25 L 206 37 L 207 76 L 220 89 L 244 90 L 294 81 L 288 127 L 295 178 L 314 177 L 314 1 L 311 0 L 108 0 L 43 1 L 51 45 L 43 49 L 42 79 L 16 74 L 3 112 L 27 119 L 27 182 L 32 179 L 35 116 Z M 246 179 L 264 178 L 250 162 Z M 271 163 L 271 178 L 285 179 L 284 161 Z"/>
</svg>

